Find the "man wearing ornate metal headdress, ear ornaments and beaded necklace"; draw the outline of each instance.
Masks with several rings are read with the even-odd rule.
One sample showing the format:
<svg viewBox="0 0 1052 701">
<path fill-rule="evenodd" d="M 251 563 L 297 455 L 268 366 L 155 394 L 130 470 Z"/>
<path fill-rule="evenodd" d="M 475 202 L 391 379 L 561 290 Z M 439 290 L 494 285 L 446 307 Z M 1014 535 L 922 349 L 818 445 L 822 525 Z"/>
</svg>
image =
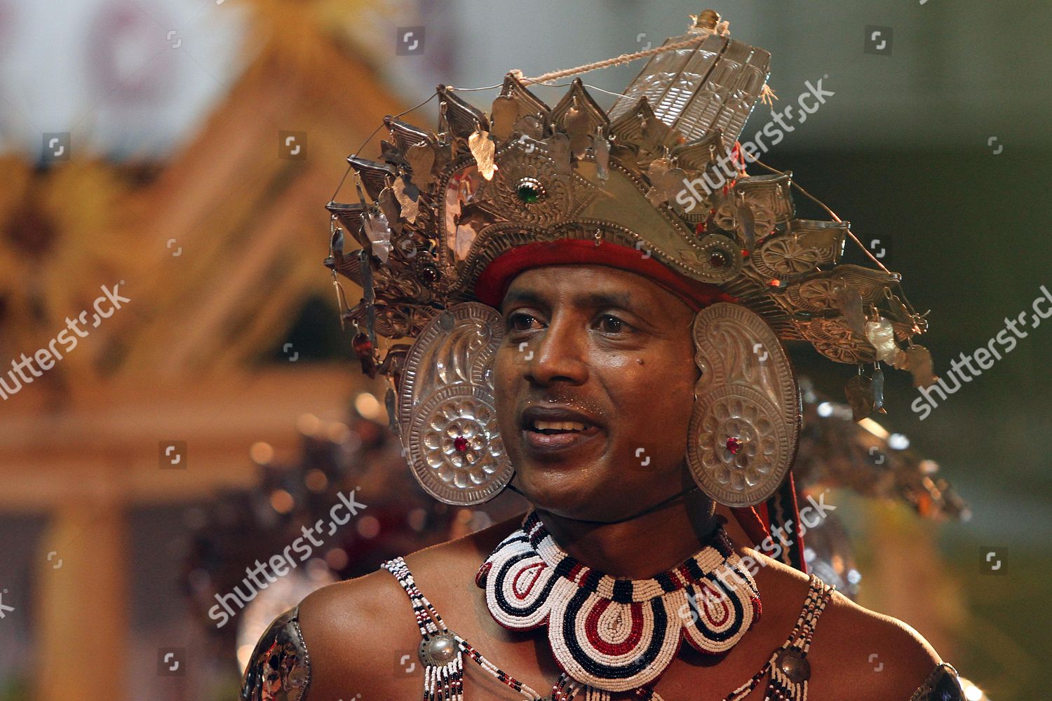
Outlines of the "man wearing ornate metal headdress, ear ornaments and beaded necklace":
<svg viewBox="0 0 1052 701">
<path fill-rule="evenodd" d="M 717 20 L 669 55 L 739 57 Z M 748 49 L 734 69 L 757 70 Z M 509 75 L 492 122 L 440 87 L 440 135 L 388 121 L 387 163 L 352 159 L 373 202 L 330 205 L 363 247 L 335 231 L 330 265 L 365 289 L 356 350 L 394 379 L 413 474 L 532 509 L 308 596 L 261 639 L 246 701 L 963 698 L 911 627 L 755 550 L 800 548 L 765 507 L 791 494 L 800 429 L 780 337 L 902 367 L 895 334 L 923 328 L 896 277 L 817 267 L 845 229 L 792 220 L 788 177 L 673 207 L 723 149 L 705 104 L 654 116 L 669 55 L 613 119 L 579 81 L 549 109 Z M 380 362 L 375 329 L 416 339 Z"/>
</svg>

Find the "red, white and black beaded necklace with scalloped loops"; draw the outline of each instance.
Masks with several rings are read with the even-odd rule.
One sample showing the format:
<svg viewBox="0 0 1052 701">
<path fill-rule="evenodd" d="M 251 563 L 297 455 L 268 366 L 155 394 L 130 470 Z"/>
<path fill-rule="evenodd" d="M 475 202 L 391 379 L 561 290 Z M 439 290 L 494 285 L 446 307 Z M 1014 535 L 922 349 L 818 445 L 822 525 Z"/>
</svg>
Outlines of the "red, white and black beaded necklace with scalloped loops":
<svg viewBox="0 0 1052 701">
<path fill-rule="evenodd" d="M 760 592 L 721 525 L 693 556 L 650 579 L 620 579 L 563 551 L 533 510 L 486 559 L 476 583 L 501 625 L 547 625 L 552 655 L 586 699 L 653 684 L 684 639 L 730 650 L 761 613 Z M 557 690 L 561 684 L 557 682 Z"/>
</svg>

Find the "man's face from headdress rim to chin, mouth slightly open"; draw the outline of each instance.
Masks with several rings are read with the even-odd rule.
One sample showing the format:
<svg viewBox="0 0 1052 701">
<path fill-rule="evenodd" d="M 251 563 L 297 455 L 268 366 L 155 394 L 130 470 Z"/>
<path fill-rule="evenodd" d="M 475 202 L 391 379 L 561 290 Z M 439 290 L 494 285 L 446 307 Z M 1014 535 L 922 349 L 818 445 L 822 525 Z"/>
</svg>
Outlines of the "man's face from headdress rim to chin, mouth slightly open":
<svg viewBox="0 0 1052 701">
<path fill-rule="evenodd" d="M 690 307 L 632 272 L 557 265 L 520 273 L 501 312 L 498 424 L 532 503 L 612 520 L 689 486 Z"/>
</svg>

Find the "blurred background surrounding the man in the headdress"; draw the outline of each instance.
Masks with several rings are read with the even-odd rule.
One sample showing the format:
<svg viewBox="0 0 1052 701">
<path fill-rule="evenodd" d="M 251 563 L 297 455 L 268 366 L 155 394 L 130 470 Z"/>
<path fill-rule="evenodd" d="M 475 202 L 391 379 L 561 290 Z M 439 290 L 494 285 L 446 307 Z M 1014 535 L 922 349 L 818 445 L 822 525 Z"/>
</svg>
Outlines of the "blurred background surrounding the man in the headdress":
<svg viewBox="0 0 1052 701">
<path fill-rule="evenodd" d="M 660 45 L 707 6 L 0 0 L 0 700 L 232 701 L 262 627 L 312 589 L 519 513 L 412 482 L 340 329 L 324 205 L 348 154 L 379 153 L 383 116 L 436 84 Z M 771 51 L 783 103 L 834 94 L 765 161 L 904 274 L 937 373 L 1030 317 L 1052 285 L 1046 3 L 713 7 Z M 618 92 L 642 67 L 583 79 Z M 488 111 L 497 89 L 460 95 Z M 769 120 L 757 106 L 743 136 Z M 1049 327 L 1020 326 L 924 420 L 888 373 L 865 432 L 841 406 L 854 368 L 793 350 L 804 481 L 839 517 L 814 569 L 916 627 L 974 701 L 1052 698 Z M 351 490 L 366 507 L 217 627 L 216 596 Z"/>
</svg>

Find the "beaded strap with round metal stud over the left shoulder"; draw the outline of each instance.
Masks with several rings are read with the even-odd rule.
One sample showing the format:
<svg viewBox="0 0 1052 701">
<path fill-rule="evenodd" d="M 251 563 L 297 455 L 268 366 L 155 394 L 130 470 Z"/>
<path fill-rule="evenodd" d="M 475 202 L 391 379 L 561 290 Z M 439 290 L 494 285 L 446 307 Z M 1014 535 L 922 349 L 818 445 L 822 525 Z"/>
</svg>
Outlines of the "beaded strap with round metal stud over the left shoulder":
<svg viewBox="0 0 1052 701">
<path fill-rule="evenodd" d="M 463 701 L 464 654 L 502 684 L 522 694 L 524 699 L 544 701 L 540 694 L 506 674 L 468 644 L 467 640 L 449 630 L 431 602 L 417 589 L 417 582 L 404 559 L 396 557 L 381 566 L 394 576 L 412 602 L 421 636 L 418 654 L 424 665 L 424 701 Z"/>
</svg>

